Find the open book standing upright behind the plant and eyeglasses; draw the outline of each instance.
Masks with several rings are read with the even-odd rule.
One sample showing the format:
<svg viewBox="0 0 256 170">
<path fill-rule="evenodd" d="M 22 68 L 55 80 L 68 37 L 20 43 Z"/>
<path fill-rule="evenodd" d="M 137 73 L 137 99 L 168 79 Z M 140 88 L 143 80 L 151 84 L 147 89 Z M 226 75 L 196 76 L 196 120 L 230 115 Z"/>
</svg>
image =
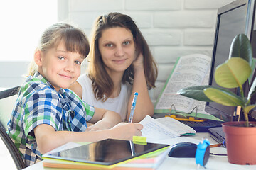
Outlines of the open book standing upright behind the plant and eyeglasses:
<svg viewBox="0 0 256 170">
<path fill-rule="evenodd" d="M 179 89 L 188 86 L 207 85 L 210 61 L 211 58 L 209 56 L 200 54 L 178 57 L 174 69 L 171 71 L 159 98 L 156 100 L 154 113 L 188 115 L 187 113 L 193 111 L 189 116 L 219 120 L 213 115 L 206 113 L 206 102 L 196 101 L 192 98 L 186 98 L 177 94 Z M 197 107 L 197 113 L 196 109 L 193 110 L 195 107 Z"/>
</svg>

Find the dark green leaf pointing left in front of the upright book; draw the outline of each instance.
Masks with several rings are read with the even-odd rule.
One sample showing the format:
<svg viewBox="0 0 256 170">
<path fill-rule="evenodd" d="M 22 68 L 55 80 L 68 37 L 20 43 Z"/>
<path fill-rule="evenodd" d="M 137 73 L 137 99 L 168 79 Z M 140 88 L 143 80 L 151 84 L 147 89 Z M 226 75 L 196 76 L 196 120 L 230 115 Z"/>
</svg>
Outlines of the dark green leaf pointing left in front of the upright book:
<svg viewBox="0 0 256 170">
<path fill-rule="evenodd" d="M 177 94 L 186 96 L 188 98 L 193 98 L 198 101 L 210 102 L 211 100 L 208 97 L 206 97 L 206 95 L 203 93 L 203 89 L 206 89 L 208 87 L 210 86 L 191 86 L 191 87 L 180 89 L 179 91 L 177 91 Z"/>
</svg>

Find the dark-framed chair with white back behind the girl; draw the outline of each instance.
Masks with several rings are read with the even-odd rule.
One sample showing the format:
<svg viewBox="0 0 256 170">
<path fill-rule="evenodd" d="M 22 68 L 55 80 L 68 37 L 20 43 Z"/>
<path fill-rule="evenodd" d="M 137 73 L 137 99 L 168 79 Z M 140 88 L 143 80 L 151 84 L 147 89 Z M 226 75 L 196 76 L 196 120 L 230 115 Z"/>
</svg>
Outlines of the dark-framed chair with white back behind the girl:
<svg viewBox="0 0 256 170">
<path fill-rule="evenodd" d="M 6 148 L 11 154 L 11 157 L 14 159 L 14 163 L 17 169 L 24 169 L 26 168 L 26 165 L 21 158 L 21 154 L 15 147 L 14 142 L 11 140 L 11 137 L 9 137 L 9 135 L 7 135 L 6 133 L 7 121 L 11 116 L 11 110 L 14 107 L 14 101 L 16 101 L 19 89 L 20 86 L 16 86 L 11 89 L 0 91 L 0 135 L 1 140 L 3 140 Z"/>
</svg>

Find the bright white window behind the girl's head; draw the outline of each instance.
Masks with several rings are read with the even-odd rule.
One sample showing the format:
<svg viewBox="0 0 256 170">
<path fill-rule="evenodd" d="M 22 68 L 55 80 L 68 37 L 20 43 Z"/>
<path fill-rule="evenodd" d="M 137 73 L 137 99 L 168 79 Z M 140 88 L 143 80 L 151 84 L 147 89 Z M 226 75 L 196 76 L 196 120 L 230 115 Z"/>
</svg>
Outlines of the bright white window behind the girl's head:
<svg viewBox="0 0 256 170">
<path fill-rule="evenodd" d="M 57 18 L 57 0 L 1 1 L 2 61 L 31 61 L 43 30 Z"/>
</svg>

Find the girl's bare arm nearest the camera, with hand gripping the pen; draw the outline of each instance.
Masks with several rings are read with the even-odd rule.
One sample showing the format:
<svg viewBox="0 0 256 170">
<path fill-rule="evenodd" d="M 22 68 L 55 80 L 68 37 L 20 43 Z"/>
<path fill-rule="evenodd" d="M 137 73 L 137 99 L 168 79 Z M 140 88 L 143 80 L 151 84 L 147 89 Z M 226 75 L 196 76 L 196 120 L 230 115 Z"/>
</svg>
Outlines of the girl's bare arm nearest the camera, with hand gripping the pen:
<svg viewBox="0 0 256 170">
<path fill-rule="evenodd" d="M 46 124 L 34 128 L 36 143 L 41 154 L 45 154 L 56 147 L 67 142 L 95 142 L 107 138 L 119 140 L 132 140 L 133 136 L 141 136 L 143 126 L 138 123 L 119 123 L 108 130 L 97 130 L 89 132 L 55 131 Z"/>
</svg>

